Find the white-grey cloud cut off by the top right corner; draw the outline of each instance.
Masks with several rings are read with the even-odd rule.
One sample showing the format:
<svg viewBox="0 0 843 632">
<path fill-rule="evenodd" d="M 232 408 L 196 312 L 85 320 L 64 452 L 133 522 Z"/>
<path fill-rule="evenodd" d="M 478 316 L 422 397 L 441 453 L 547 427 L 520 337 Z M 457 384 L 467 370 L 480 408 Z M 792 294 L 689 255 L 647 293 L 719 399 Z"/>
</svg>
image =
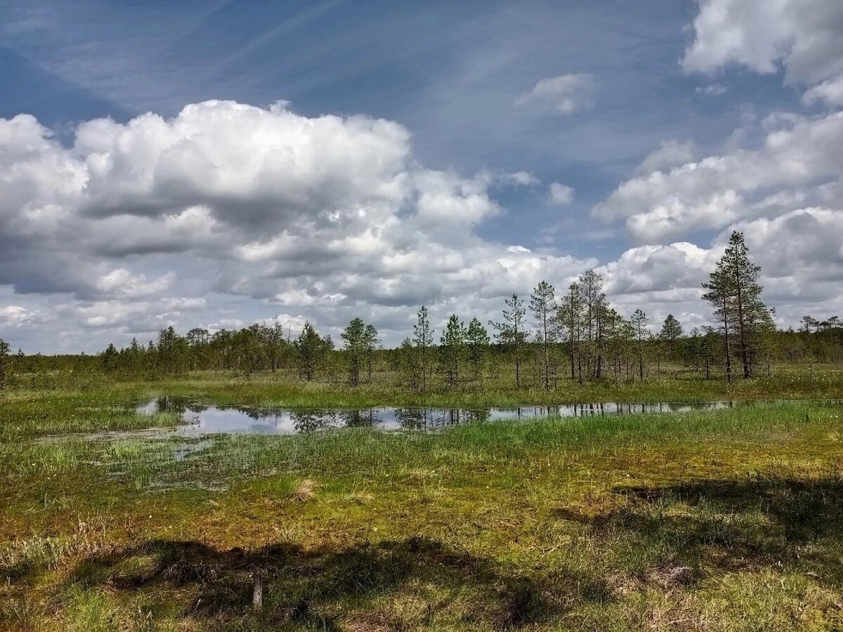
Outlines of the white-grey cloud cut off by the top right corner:
<svg viewBox="0 0 843 632">
<path fill-rule="evenodd" d="M 682 67 L 714 72 L 741 64 L 755 72 L 784 68 L 807 101 L 843 104 L 843 3 L 839 0 L 699 0 L 695 37 Z"/>
</svg>

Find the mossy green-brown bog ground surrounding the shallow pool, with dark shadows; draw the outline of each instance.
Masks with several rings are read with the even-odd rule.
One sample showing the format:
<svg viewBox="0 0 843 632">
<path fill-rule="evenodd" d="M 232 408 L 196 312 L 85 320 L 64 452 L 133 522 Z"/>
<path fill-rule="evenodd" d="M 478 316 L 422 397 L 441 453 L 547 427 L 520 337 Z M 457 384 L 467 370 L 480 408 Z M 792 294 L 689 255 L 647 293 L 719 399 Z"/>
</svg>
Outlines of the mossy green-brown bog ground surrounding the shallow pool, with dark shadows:
<svg viewBox="0 0 843 632">
<path fill-rule="evenodd" d="M 800 377 L 556 400 L 840 393 L 835 372 Z M 840 404 L 187 438 L 132 432 L 173 415 L 109 408 L 156 393 L 255 405 L 543 396 L 213 374 L 3 394 L 0 628 L 843 626 Z"/>
</svg>

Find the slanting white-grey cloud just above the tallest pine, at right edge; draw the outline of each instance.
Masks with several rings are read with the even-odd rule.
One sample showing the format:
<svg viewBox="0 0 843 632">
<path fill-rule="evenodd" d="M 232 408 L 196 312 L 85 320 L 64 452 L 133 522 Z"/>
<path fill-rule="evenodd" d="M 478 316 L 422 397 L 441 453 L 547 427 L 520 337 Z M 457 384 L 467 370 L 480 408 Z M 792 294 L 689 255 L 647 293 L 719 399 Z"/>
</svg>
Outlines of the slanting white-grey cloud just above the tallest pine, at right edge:
<svg viewBox="0 0 843 632">
<path fill-rule="evenodd" d="M 595 206 L 595 217 L 623 220 L 631 238 L 658 243 L 690 231 L 718 230 L 792 195 L 819 201 L 823 187 L 843 178 L 843 113 L 819 117 L 774 116 L 762 123 L 758 148 L 737 147 L 721 155 L 670 166 L 666 146 L 651 154 L 638 175 L 621 183 Z M 682 158 L 684 150 L 668 154 Z M 654 158 L 655 157 L 655 158 Z M 655 169 L 655 170 L 654 170 Z M 765 203 L 766 202 L 766 203 Z"/>
</svg>

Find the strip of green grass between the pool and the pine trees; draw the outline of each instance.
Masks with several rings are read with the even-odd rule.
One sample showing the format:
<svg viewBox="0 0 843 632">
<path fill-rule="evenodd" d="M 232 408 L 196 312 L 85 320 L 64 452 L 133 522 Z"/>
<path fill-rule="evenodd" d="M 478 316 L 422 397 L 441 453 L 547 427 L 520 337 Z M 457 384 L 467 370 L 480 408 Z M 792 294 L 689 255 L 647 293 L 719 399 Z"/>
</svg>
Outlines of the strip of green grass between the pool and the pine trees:
<svg viewBox="0 0 843 632">
<path fill-rule="evenodd" d="M 74 383 L 65 376 L 57 383 Z M 843 394 L 843 369 L 832 365 L 808 371 L 804 367 L 774 367 L 771 377 L 736 379 L 732 383 L 717 377 L 706 379 L 702 372 L 665 369 L 662 375 L 644 381 L 576 382 L 560 378 L 550 391 L 529 386 L 515 388 L 507 372 L 482 381 L 464 381 L 449 388 L 432 380 L 426 392 L 411 390 L 397 372 L 375 372 L 352 388 L 340 373 L 333 380 L 303 381 L 290 371 L 193 372 L 180 378 L 152 380 L 121 379 L 117 376 L 85 376 L 76 388 L 39 388 L 0 392 L 0 432 L 8 427 L 29 426 L 30 434 L 55 431 L 89 431 L 97 424 L 118 430 L 132 425 L 131 415 L 113 410 L 106 420 L 99 407 L 132 399 L 175 394 L 207 399 L 217 404 L 238 404 L 290 408 L 368 408 L 374 406 L 486 407 L 521 404 L 582 404 L 596 402 L 694 402 L 742 399 L 838 399 Z M 121 418 L 122 417 L 122 418 Z M 166 425 L 167 420 L 159 420 Z"/>
</svg>

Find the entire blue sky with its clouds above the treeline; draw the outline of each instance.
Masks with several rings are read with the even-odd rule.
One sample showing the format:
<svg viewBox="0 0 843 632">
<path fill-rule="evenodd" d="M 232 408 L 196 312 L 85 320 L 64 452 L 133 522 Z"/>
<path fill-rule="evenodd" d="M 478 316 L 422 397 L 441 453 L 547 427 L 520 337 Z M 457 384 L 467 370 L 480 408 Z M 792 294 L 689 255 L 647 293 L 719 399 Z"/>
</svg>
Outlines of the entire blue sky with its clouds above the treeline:
<svg viewBox="0 0 843 632">
<path fill-rule="evenodd" d="M 778 324 L 843 315 L 840 33 L 839 0 L 5 0 L 0 337 L 396 345 L 589 268 L 688 331 L 733 230 Z"/>
</svg>

